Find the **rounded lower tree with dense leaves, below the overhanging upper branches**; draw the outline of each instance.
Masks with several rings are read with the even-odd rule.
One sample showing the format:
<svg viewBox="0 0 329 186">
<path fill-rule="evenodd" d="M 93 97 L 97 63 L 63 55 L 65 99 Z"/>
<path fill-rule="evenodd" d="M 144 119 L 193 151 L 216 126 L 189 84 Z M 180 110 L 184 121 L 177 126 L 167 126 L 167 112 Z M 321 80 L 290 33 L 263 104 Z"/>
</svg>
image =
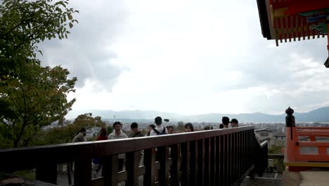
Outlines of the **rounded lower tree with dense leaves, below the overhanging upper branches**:
<svg viewBox="0 0 329 186">
<path fill-rule="evenodd" d="M 25 63 L 17 72 L 17 77 L 9 76 L 0 86 L 0 104 L 6 104 L 0 122 L 10 132 L 13 147 L 27 146 L 39 130 L 70 111 L 75 99 L 67 101 L 67 94 L 75 92 L 77 81 L 68 79 L 68 70 L 60 66 Z"/>
</svg>

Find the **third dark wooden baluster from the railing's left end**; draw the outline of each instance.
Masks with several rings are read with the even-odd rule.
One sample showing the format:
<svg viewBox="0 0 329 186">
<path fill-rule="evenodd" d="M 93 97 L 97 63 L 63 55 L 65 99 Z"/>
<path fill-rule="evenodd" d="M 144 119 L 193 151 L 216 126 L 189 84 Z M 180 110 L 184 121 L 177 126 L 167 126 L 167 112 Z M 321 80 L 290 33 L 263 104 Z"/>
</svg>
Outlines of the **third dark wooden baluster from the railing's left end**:
<svg viewBox="0 0 329 186">
<path fill-rule="evenodd" d="M 118 164 L 117 164 L 117 155 L 106 156 L 101 158 L 103 162 L 103 178 L 104 185 L 117 185 L 117 173 L 118 173 Z"/>
</svg>

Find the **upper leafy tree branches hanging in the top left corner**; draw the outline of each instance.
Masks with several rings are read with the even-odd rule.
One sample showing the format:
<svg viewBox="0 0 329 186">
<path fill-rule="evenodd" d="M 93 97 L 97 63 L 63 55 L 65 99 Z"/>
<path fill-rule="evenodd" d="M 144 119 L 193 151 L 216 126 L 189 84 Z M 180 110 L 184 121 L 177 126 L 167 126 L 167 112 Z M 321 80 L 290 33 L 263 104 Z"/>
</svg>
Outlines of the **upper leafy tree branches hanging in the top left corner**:
<svg viewBox="0 0 329 186">
<path fill-rule="evenodd" d="M 37 44 L 44 39 L 67 38 L 77 20 L 68 0 L 4 0 L 0 3 L 0 78 L 16 77 L 16 70 L 25 63 L 40 64 Z M 39 51 L 40 54 L 41 51 Z"/>
</svg>

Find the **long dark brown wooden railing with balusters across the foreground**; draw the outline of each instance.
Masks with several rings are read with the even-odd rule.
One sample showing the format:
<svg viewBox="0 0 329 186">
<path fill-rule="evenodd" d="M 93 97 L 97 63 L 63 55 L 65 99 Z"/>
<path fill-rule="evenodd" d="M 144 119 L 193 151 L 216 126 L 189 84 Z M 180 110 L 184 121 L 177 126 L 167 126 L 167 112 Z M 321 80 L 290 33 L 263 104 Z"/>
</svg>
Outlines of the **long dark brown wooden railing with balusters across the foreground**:
<svg viewBox="0 0 329 186">
<path fill-rule="evenodd" d="M 144 151 L 143 166 L 139 156 Z M 169 154 L 170 151 L 170 154 Z M 118 154 L 126 170 L 118 173 Z M 155 154 L 159 162 L 155 162 Z M 36 168 L 36 178 L 56 183 L 57 164 L 74 162 L 74 185 L 238 185 L 247 174 L 264 173 L 267 144 L 254 127 L 0 150 L 0 171 Z M 91 159 L 103 161 L 103 178 L 91 178 Z M 159 164 L 159 166 L 157 166 Z M 159 170 L 157 170 L 159 168 Z M 159 173 L 155 173 L 159 171 Z M 157 176 L 157 178 L 156 178 Z"/>
</svg>

